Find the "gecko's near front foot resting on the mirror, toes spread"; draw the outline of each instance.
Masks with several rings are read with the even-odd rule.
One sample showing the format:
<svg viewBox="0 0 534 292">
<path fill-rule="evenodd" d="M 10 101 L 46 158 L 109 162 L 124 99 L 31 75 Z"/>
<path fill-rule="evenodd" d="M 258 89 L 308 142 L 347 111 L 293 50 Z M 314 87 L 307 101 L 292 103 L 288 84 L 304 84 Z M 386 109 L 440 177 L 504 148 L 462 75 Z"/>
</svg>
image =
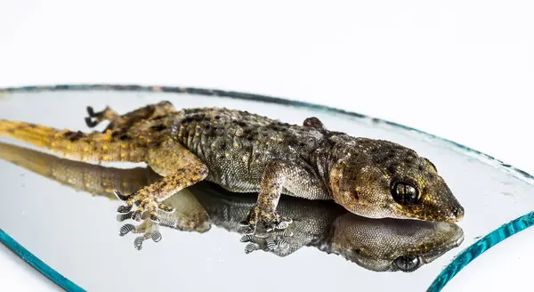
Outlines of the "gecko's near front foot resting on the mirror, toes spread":
<svg viewBox="0 0 534 292">
<path fill-rule="evenodd" d="M 248 211 L 247 218 L 239 225 L 244 234 L 255 234 L 258 223 L 262 223 L 265 231 L 270 232 L 286 229 L 292 222 L 291 218 L 282 217 L 276 211 L 263 211 L 255 206 Z"/>
</svg>

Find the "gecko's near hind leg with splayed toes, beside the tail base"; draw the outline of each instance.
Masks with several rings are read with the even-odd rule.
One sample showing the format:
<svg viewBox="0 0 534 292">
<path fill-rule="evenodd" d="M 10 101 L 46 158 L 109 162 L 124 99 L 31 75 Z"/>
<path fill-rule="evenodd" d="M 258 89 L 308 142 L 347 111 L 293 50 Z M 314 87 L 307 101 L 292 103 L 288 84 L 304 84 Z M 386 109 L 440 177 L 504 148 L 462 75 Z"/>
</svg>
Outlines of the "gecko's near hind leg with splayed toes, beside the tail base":
<svg viewBox="0 0 534 292">
<path fill-rule="evenodd" d="M 207 176 L 207 167 L 194 154 L 172 139 L 162 142 L 157 148 L 149 151 L 148 164 L 164 177 L 131 195 L 115 191 L 117 198 L 126 202 L 125 206 L 118 207 L 117 212 L 129 215 L 134 221 L 142 221 L 135 230 L 150 226 L 149 233 L 145 232 L 144 237 L 150 237 L 154 234 L 153 231 L 157 230 L 161 223 L 158 213 L 174 212 L 174 207 L 164 204 L 164 200 L 177 191 L 204 180 Z M 132 211 L 134 205 L 137 209 Z"/>
</svg>

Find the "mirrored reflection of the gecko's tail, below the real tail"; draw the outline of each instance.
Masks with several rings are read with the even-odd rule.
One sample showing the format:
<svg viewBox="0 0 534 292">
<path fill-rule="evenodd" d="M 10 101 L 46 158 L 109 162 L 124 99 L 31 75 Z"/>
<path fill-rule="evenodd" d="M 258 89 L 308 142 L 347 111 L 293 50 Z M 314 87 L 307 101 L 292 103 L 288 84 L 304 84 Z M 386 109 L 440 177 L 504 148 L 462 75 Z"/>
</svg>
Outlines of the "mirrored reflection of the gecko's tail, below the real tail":
<svg viewBox="0 0 534 292">
<path fill-rule="evenodd" d="M 131 193 L 150 183 L 148 168 L 119 169 L 96 166 L 2 142 L 0 142 L 0 158 L 78 191 L 87 191 L 110 199 L 115 199 L 113 190 Z"/>
</svg>

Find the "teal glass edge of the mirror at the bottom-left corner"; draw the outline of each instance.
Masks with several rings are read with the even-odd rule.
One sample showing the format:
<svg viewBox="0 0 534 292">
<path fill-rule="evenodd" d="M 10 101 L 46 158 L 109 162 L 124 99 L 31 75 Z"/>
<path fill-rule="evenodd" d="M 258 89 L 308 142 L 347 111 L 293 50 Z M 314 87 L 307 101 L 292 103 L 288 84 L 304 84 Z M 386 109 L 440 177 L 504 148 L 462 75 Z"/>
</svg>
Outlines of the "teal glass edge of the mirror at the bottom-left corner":
<svg viewBox="0 0 534 292">
<path fill-rule="evenodd" d="M 83 288 L 80 288 L 75 283 L 69 279 L 63 277 L 61 273 L 55 271 L 48 264 L 44 264 L 36 255 L 33 255 L 25 247 L 22 247 L 17 240 L 9 236 L 5 231 L 0 229 L 0 242 L 2 242 L 6 247 L 11 249 L 15 254 L 19 255 L 26 263 L 33 266 L 37 271 L 41 272 L 48 279 L 52 280 L 61 288 L 64 288 L 67 291 L 85 291 Z"/>
</svg>

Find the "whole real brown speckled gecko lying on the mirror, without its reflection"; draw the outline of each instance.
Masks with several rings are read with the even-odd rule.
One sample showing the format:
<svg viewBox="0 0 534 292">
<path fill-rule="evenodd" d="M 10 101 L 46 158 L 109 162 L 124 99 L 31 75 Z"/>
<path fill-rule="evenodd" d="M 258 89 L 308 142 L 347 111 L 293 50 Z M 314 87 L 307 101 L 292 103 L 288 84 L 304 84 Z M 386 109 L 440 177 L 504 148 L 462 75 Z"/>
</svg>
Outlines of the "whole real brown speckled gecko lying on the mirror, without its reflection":
<svg viewBox="0 0 534 292">
<path fill-rule="evenodd" d="M 109 125 L 87 133 L 0 120 L 0 135 L 75 160 L 145 162 L 162 178 L 129 194 L 115 192 L 125 201 L 117 212 L 135 207 L 136 222 L 158 223 L 158 210 L 174 211 L 165 199 L 204 180 L 228 191 L 258 192 L 242 221 L 247 234 L 292 222 L 277 212 L 281 194 L 334 200 L 368 218 L 457 222 L 464 216 L 428 158 L 395 142 L 328 130 L 318 118 L 291 125 L 244 110 L 176 110 L 170 101 L 124 115 L 109 107 L 87 112 L 87 126 Z"/>
</svg>

